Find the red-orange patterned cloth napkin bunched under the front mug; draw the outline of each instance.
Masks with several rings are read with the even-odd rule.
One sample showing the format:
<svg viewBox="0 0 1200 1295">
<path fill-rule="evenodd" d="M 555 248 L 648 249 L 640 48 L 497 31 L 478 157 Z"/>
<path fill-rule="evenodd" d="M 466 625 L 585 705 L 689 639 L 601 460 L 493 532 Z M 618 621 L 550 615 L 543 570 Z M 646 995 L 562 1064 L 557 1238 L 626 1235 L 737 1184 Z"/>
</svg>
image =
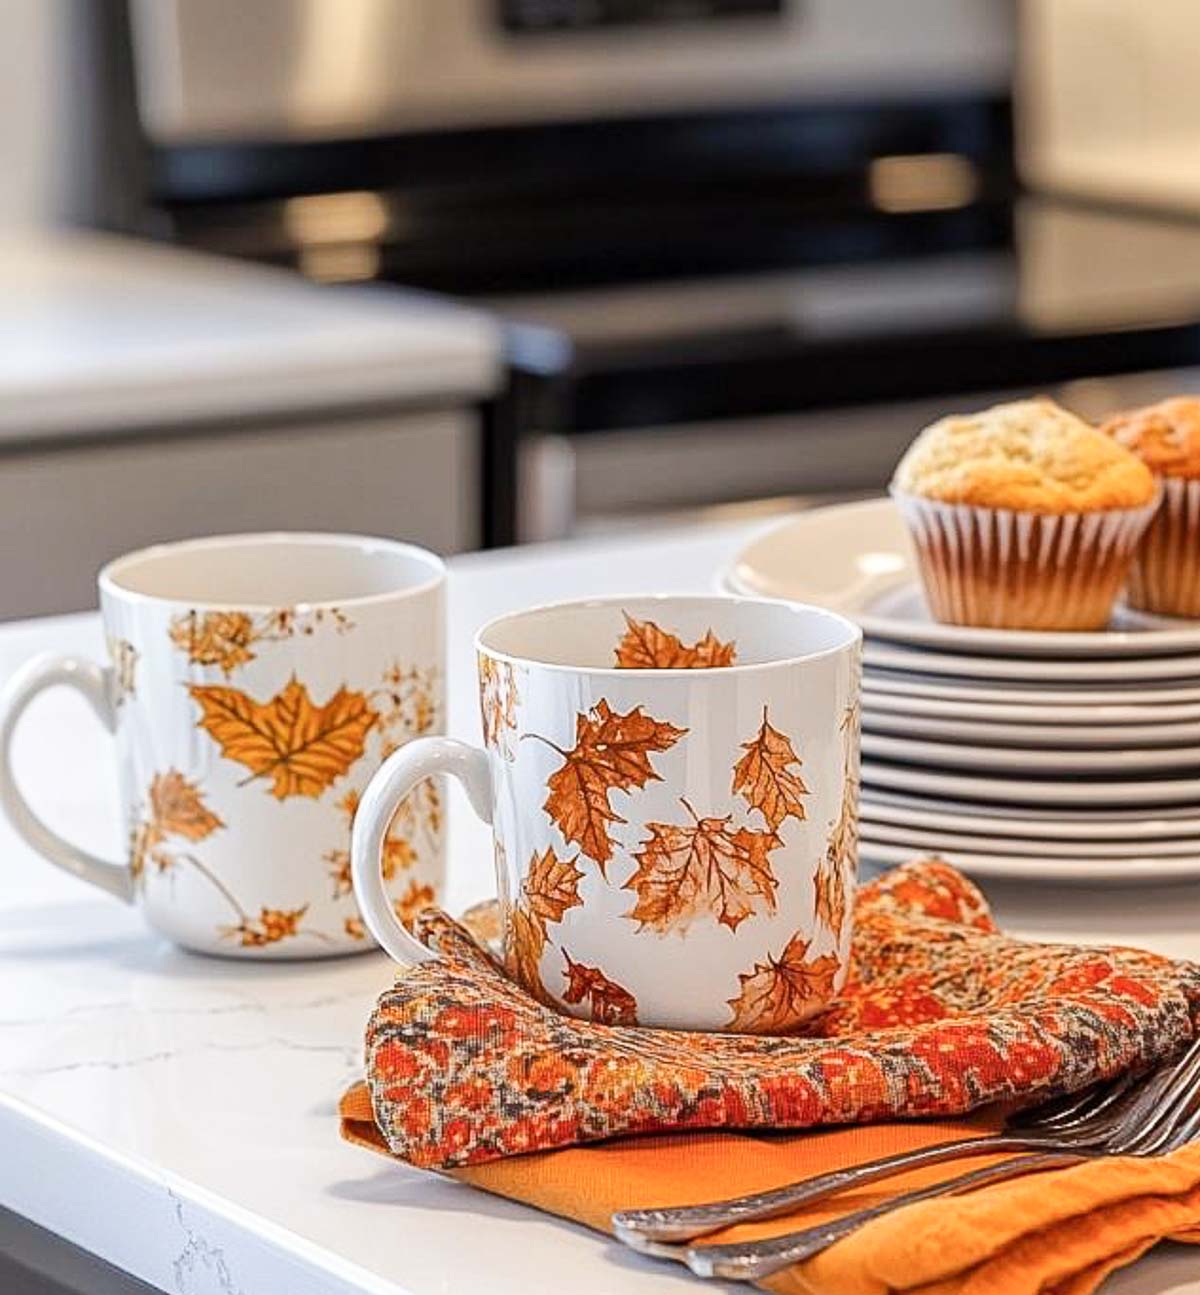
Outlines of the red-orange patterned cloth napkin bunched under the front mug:
<svg viewBox="0 0 1200 1295">
<path fill-rule="evenodd" d="M 945 864 L 863 887 L 854 922 L 841 998 L 777 1039 L 559 1015 L 430 914 L 440 960 L 401 973 L 368 1026 L 368 1141 L 447 1169 L 625 1133 L 961 1115 L 1156 1062 L 1200 1018 L 1200 967 L 1010 939 Z"/>
</svg>

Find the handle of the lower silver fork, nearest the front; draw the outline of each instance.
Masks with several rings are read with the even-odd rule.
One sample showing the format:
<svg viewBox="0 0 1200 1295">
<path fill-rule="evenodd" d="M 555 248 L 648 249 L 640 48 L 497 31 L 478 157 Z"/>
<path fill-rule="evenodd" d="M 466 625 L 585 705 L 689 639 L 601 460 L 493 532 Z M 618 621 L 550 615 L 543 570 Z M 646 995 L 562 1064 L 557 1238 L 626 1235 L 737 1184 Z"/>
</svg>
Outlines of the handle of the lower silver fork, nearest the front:
<svg viewBox="0 0 1200 1295">
<path fill-rule="evenodd" d="M 791 1232 L 764 1241 L 729 1242 L 722 1246 L 691 1246 L 686 1252 L 687 1267 L 698 1277 L 731 1277 L 743 1282 L 759 1281 L 783 1268 L 790 1268 L 792 1264 L 799 1264 L 801 1260 L 812 1259 L 813 1255 L 832 1246 L 835 1241 L 841 1241 L 843 1237 L 848 1237 L 852 1232 L 857 1232 L 875 1219 L 882 1219 L 893 1210 L 902 1210 L 905 1206 L 913 1206 L 920 1200 L 933 1200 L 937 1197 L 957 1197 L 992 1182 L 1019 1178 L 1025 1173 L 1041 1173 L 1045 1169 L 1078 1164 L 1100 1153 L 1080 1150 L 1016 1156 L 1012 1160 L 1005 1160 L 1003 1164 L 972 1169 L 970 1173 L 961 1173 L 957 1178 L 935 1182 L 915 1191 L 906 1191 L 904 1195 L 893 1197 L 870 1210 L 860 1210 L 841 1219 L 818 1224 L 816 1228 L 806 1228 L 804 1232 Z"/>
</svg>

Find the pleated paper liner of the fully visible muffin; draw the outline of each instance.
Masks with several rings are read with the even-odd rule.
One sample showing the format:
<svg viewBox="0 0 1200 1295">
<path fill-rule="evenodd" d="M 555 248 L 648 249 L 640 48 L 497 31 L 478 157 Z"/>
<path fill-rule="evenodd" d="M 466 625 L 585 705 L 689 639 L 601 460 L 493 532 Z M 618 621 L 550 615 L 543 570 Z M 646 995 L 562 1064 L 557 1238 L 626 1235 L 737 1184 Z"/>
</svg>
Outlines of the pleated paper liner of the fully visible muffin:
<svg viewBox="0 0 1200 1295">
<path fill-rule="evenodd" d="M 933 616 L 1007 629 L 1103 628 L 1159 506 L 1041 514 L 892 497 Z"/>
</svg>

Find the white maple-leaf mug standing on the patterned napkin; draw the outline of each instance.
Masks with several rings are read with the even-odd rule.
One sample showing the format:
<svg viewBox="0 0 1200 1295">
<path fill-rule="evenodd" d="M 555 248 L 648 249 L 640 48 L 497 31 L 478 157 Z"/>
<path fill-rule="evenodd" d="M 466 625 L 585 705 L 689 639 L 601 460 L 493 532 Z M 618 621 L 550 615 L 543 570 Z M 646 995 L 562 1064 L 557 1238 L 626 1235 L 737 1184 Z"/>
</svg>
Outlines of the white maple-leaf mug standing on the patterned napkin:
<svg viewBox="0 0 1200 1295">
<path fill-rule="evenodd" d="M 368 926 L 395 921 L 384 831 L 450 773 L 492 824 L 505 958 L 542 1001 L 621 1024 L 783 1033 L 845 978 L 857 865 L 861 633 L 795 603 L 628 597 L 476 638 L 487 750 L 413 742 L 351 846 Z"/>
</svg>

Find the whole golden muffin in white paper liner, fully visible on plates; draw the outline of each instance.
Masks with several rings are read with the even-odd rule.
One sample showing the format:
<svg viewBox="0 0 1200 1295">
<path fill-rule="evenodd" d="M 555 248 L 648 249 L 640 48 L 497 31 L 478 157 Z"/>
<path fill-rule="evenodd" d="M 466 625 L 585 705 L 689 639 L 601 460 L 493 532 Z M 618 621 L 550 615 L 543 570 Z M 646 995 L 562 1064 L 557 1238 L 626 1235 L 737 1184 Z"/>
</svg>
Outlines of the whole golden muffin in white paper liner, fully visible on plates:
<svg viewBox="0 0 1200 1295">
<path fill-rule="evenodd" d="M 926 427 L 892 495 L 932 614 L 1008 629 L 1107 624 L 1157 501 L 1135 455 L 1047 399 Z"/>
</svg>

